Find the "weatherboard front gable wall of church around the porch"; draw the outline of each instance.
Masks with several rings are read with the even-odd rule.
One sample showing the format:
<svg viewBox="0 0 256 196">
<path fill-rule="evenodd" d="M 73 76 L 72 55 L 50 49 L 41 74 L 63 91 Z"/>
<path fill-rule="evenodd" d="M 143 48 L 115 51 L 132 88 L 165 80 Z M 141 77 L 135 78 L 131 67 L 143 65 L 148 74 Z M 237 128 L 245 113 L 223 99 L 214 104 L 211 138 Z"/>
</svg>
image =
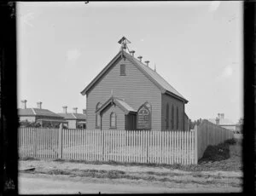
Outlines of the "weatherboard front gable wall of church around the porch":
<svg viewBox="0 0 256 196">
<path fill-rule="evenodd" d="M 126 66 L 125 76 L 120 76 L 121 64 Z M 94 87 L 88 91 L 86 96 L 87 129 L 96 129 L 96 104 L 108 101 L 111 95 L 119 99 L 125 99 L 125 102 L 136 111 L 145 101 L 148 101 L 152 105 L 152 130 L 160 130 L 160 89 L 127 59 L 125 61 L 124 59 L 116 61 L 107 74 L 102 76 Z"/>
</svg>

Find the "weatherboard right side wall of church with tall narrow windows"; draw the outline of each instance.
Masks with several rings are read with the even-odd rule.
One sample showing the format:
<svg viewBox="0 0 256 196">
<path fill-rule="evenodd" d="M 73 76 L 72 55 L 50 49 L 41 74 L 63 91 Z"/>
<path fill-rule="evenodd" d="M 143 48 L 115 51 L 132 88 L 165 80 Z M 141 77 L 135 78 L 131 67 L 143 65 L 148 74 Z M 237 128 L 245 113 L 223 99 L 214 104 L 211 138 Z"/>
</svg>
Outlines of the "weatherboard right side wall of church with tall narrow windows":
<svg viewBox="0 0 256 196">
<path fill-rule="evenodd" d="M 172 106 L 174 107 L 174 130 L 177 130 L 177 107 L 178 107 L 178 130 L 183 130 L 184 122 L 184 104 L 183 101 L 179 101 L 174 97 L 162 94 L 161 105 L 161 126 L 162 130 L 166 130 L 166 107 L 169 104 L 169 129 L 172 130 Z"/>
</svg>

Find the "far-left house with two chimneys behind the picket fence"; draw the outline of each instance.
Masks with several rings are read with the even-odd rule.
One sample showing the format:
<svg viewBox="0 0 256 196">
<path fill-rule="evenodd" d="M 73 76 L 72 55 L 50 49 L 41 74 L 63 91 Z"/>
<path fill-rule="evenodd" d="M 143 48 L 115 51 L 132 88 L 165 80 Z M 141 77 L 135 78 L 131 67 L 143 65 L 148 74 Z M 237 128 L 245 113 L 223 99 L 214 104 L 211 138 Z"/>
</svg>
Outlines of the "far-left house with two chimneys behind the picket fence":
<svg viewBox="0 0 256 196">
<path fill-rule="evenodd" d="M 42 102 L 38 102 L 37 107 L 27 108 L 26 100 L 21 101 L 21 108 L 18 108 L 18 116 L 20 121 L 38 123 L 43 127 L 49 124 L 59 126 L 61 123 L 66 123 L 60 115 L 48 109 L 43 109 Z"/>
</svg>

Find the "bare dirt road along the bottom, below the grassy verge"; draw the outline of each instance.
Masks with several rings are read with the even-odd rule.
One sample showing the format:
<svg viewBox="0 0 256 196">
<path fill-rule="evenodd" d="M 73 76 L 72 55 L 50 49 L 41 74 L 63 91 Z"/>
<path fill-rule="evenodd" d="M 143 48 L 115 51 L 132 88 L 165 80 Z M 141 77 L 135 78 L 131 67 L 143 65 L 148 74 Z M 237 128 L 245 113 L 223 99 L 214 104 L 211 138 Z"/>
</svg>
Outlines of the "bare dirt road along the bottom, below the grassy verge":
<svg viewBox="0 0 256 196">
<path fill-rule="evenodd" d="M 75 193 L 237 193 L 240 188 L 166 187 L 154 182 L 132 182 L 122 179 L 120 182 L 102 179 L 21 174 L 19 178 L 20 194 L 75 194 Z"/>
</svg>

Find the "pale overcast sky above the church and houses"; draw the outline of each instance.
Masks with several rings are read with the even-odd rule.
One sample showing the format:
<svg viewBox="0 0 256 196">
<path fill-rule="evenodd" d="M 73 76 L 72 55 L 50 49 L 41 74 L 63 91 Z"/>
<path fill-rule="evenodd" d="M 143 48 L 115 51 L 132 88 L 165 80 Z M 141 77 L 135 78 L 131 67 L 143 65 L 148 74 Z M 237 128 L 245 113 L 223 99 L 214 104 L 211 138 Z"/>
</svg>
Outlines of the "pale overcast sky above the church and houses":
<svg viewBox="0 0 256 196">
<path fill-rule="evenodd" d="M 18 106 L 72 112 L 119 39 L 189 103 L 192 120 L 242 117 L 242 3 L 17 3 Z M 135 87 L 136 88 L 136 87 Z"/>
</svg>

